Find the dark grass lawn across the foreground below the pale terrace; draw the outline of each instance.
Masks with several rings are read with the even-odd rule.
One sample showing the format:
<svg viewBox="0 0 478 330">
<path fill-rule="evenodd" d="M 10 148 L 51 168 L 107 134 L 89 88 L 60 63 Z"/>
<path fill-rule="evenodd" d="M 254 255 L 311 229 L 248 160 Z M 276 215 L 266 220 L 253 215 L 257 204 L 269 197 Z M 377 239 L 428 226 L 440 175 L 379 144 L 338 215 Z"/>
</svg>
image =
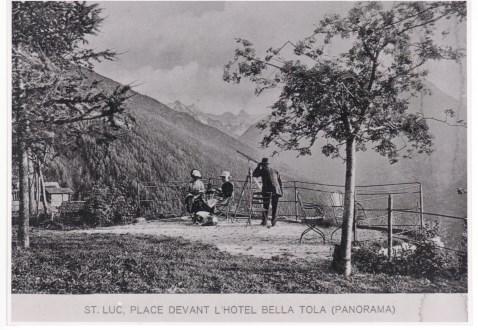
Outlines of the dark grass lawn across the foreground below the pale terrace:
<svg viewBox="0 0 478 330">
<path fill-rule="evenodd" d="M 13 242 L 12 293 L 466 292 L 459 281 L 355 273 L 327 261 L 231 255 L 182 238 L 35 230 Z"/>
</svg>

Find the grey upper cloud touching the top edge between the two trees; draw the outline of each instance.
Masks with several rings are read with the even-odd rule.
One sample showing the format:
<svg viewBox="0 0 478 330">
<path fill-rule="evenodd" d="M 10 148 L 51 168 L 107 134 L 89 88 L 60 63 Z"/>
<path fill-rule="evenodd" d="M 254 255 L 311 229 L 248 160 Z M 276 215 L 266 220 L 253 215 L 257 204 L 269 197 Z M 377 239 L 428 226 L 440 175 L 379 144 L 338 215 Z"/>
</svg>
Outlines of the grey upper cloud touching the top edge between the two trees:
<svg viewBox="0 0 478 330">
<path fill-rule="evenodd" d="M 107 17 L 92 44 L 126 52 L 122 61 L 130 68 L 144 63 L 171 68 L 192 61 L 215 66 L 231 57 L 235 37 L 249 38 L 266 48 L 280 45 L 284 39 L 310 34 L 324 12 L 344 6 L 317 2 L 218 4 L 101 3 Z"/>
</svg>

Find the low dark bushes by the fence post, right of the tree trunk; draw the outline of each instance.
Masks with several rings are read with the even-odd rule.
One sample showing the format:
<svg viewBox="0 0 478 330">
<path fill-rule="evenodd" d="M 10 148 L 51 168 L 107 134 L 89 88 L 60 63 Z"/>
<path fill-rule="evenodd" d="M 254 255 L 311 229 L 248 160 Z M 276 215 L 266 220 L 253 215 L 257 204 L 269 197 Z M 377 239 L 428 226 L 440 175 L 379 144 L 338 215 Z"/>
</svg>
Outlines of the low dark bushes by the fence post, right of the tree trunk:
<svg viewBox="0 0 478 330">
<path fill-rule="evenodd" d="M 467 267 L 461 261 L 463 254 L 440 248 L 437 237 L 438 224 L 426 226 L 415 232 L 412 245 L 403 244 L 391 261 L 379 243 L 365 243 L 353 251 L 353 263 L 357 269 L 368 273 L 410 275 L 430 280 L 466 279 Z"/>
</svg>

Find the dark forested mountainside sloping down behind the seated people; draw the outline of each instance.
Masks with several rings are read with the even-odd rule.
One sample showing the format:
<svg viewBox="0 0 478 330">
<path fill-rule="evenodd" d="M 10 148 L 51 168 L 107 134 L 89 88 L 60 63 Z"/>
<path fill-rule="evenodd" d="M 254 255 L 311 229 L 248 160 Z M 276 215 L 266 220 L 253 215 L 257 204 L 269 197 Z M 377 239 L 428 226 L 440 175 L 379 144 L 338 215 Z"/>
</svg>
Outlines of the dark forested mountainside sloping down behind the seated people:
<svg viewBox="0 0 478 330">
<path fill-rule="evenodd" d="M 108 89 L 118 85 L 88 74 L 102 80 Z M 126 186 L 129 197 L 135 198 L 138 180 L 188 181 L 192 168 L 200 169 L 203 177 L 217 177 L 230 170 L 235 179 L 243 179 L 247 161 L 236 150 L 260 157 L 254 148 L 150 97 L 134 93 L 126 108 L 137 121 L 133 130 L 108 148 L 85 138 L 79 148 L 57 150 L 60 155 L 48 164 L 46 180 L 70 186 L 80 198 L 94 184 Z"/>
</svg>

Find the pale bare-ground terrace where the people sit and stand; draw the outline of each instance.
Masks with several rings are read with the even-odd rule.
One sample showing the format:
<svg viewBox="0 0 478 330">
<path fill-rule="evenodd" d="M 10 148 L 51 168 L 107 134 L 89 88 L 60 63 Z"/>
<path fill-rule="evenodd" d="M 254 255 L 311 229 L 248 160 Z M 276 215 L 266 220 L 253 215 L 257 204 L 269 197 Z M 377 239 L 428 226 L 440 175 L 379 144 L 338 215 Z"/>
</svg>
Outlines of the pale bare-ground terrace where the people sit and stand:
<svg viewBox="0 0 478 330">
<path fill-rule="evenodd" d="M 222 221 L 217 226 L 209 227 L 193 225 L 188 220 L 168 219 L 72 232 L 166 235 L 214 244 L 220 250 L 232 254 L 261 258 L 331 259 L 333 242 L 330 242 L 330 234 L 335 228 L 323 229 L 328 239 L 326 244 L 312 232 L 309 232 L 302 244 L 299 244 L 300 234 L 305 228 L 303 224 L 287 221 L 278 222 L 277 226 L 268 229 L 258 223 L 247 226 L 244 222 Z M 340 231 L 334 234 L 335 243 L 338 239 Z"/>
</svg>

